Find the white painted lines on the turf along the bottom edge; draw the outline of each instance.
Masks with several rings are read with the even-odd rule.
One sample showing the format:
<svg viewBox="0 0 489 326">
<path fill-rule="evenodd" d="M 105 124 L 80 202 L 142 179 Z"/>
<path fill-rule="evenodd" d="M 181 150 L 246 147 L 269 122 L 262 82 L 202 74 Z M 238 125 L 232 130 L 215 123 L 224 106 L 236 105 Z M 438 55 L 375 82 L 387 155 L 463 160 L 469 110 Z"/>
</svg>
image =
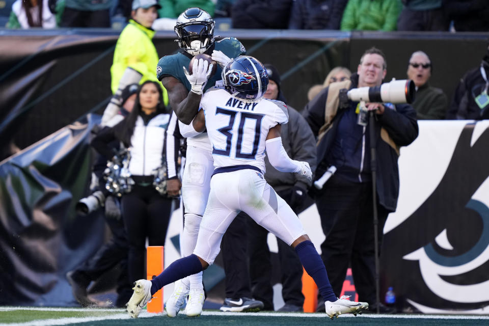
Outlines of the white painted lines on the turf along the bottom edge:
<svg viewBox="0 0 489 326">
<path fill-rule="evenodd" d="M 39 310 L 39 311 L 77 311 L 77 312 L 90 312 L 90 311 L 111 311 L 111 312 L 122 312 L 123 309 L 93 309 L 93 308 L 46 308 L 46 307 L 0 307 L 0 311 L 13 311 L 13 310 Z M 147 311 L 142 311 L 139 315 L 140 318 L 149 318 L 162 316 L 165 313 L 149 313 Z M 262 317 L 315 317 L 315 318 L 329 318 L 324 313 L 279 313 L 279 312 L 222 312 L 222 311 L 203 311 L 203 316 L 262 316 Z M 341 315 L 340 318 L 355 317 L 352 314 Z M 406 318 L 406 319 L 483 319 L 489 320 L 489 316 L 474 316 L 474 315 L 386 315 L 386 314 L 364 314 L 359 315 L 357 318 Z M 88 321 L 100 321 L 100 320 L 111 320 L 111 319 L 130 319 L 129 316 L 124 313 L 99 316 L 99 317 L 64 317 L 57 319 L 41 319 L 33 320 L 21 323 L 0 323 L 0 326 L 55 326 L 55 325 L 69 325 L 78 322 L 88 322 Z M 360 321 L 360 319 L 359 319 Z"/>
</svg>

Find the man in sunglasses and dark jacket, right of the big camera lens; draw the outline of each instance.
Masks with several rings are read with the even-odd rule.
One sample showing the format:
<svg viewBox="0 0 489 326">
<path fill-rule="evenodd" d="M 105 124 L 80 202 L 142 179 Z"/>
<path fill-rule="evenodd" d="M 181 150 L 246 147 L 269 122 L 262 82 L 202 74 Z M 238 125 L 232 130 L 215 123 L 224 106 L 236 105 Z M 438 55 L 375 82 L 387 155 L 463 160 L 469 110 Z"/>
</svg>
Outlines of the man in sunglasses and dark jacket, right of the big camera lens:
<svg viewBox="0 0 489 326">
<path fill-rule="evenodd" d="M 408 78 L 416 85 L 416 96 L 412 103 L 416 110 L 418 120 L 445 119 L 448 99 L 439 88 L 428 84 L 433 71 L 433 64 L 423 51 L 416 51 L 411 55 L 408 64 Z"/>
</svg>

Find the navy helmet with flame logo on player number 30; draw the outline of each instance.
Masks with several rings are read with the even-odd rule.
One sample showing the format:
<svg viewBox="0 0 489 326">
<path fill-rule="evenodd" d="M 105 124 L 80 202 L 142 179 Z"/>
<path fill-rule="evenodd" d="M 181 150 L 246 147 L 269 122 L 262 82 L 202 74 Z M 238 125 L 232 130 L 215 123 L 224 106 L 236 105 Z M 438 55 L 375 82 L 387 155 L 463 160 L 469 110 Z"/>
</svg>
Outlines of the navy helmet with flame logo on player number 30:
<svg viewBox="0 0 489 326">
<path fill-rule="evenodd" d="M 240 56 L 231 60 L 222 72 L 224 88 L 234 97 L 253 102 L 263 97 L 268 86 L 268 74 L 257 59 Z"/>
</svg>

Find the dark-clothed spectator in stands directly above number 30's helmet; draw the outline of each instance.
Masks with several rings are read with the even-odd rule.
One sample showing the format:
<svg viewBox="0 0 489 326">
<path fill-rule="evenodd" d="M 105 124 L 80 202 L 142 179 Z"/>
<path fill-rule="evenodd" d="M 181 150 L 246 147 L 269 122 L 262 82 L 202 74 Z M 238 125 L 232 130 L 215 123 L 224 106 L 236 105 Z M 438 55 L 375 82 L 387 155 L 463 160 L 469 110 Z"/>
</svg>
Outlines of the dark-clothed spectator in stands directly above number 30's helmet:
<svg viewBox="0 0 489 326">
<path fill-rule="evenodd" d="M 292 0 L 236 0 L 232 8 L 235 29 L 287 29 Z"/>
</svg>

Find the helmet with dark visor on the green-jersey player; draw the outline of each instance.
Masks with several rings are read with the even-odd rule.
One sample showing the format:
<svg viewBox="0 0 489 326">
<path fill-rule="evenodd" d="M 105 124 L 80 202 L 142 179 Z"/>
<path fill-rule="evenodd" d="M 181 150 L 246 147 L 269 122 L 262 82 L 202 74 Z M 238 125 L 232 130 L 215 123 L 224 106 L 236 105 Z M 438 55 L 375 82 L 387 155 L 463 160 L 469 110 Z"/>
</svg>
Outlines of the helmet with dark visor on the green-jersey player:
<svg viewBox="0 0 489 326">
<path fill-rule="evenodd" d="M 200 8 L 188 8 L 180 14 L 174 28 L 178 46 L 192 56 L 204 53 L 214 43 L 214 20 Z"/>
</svg>

